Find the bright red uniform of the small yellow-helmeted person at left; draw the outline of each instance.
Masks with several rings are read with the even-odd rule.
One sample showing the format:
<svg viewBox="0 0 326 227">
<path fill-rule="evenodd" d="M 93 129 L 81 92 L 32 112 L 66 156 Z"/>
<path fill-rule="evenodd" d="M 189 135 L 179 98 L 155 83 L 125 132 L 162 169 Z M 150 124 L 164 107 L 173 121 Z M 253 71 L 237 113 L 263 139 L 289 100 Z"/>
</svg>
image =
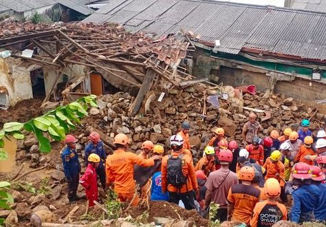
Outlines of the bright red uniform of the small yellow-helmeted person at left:
<svg viewBox="0 0 326 227">
<path fill-rule="evenodd" d="M 98 182 L 96 169 L 88 164 L 84 175 L 80 178 L 79 183 L 83 185 L 86 191 L 86 197 L 89 200 L 89 206 L 94 206 L 94 200 L 98 201 Z"/>
</svg>

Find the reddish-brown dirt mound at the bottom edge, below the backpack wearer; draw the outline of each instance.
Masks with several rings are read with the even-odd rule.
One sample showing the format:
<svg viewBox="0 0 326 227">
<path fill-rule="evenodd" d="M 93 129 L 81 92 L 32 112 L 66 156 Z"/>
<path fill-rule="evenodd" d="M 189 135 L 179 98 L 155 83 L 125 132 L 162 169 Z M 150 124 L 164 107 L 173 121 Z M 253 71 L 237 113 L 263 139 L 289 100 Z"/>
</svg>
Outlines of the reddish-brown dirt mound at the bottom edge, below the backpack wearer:
<svg viewBox="0 0 326 227">
<path fill-rule="evenodd" d="M 172 204 L 165 201 L 151 201 L 149 203 L 149 217 L 147 221 L 154 221 L 154 217 L 169 217 L 171 219 L 194 219 L 197 226 L 208 226 L 208 220 L 199 216 L 196 210 L 186 210 L 177 206 L 177 204 Z M 146 211 L 144 207 L 134 207 L 131 208 L 127 213 L 127 215 L 131 215 L 131 217 L 135 218 L 142 215 Z"/>
</svg>

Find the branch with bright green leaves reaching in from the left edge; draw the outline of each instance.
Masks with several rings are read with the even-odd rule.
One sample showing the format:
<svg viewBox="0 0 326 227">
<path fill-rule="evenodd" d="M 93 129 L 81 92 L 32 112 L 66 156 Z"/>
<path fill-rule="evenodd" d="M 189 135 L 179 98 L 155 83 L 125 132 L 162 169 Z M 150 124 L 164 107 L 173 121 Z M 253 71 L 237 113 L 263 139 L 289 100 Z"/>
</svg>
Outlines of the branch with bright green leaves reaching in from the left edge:
<svg viewBox="0 0 326 227">
<path fill-rule="evenodd" d="M 49 138 L 56 141 L 65 140 L 65 135 L 69 131 L 76 129 L 76 125 L 80 124 L 80 120 L 88 116 L 87 109 L 89 107 L 98 107 L 95 99 L 95 95 L 85 96 L 63 107 L 57 107 L 43 116 L 32 118 L 28 122 L 5 123 L 3 129 L 0 130 L 0 160 L 8 158 L 6 151 L 3 149 L 5 145 L 3 138 L 9 139 L 12 136 L 17 140 L 23 140 L 25 138 L 23 129 L 34 133 L 39 141 L 41 152 L 49 153 L 51 151 Z"/>
</svg>

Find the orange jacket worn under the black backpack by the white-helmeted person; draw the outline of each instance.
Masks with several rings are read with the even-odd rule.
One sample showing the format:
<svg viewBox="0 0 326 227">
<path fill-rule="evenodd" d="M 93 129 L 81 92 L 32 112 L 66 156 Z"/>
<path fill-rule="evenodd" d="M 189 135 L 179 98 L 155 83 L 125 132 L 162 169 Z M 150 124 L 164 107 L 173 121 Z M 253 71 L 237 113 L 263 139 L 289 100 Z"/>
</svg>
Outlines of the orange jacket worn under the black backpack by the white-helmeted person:
<svg viewBox="0 0 326 227">
<path fill-rule="evenodd" d="M 171 155 L 178 156 L 179 152 L 172 151 Z M 168 184 L 167 182 L 167 164 L 168 164 L 169 156 L 165 155 L 162 160 L 162 192 L 170 191 L 173 193 L 187 193 L 188 191 L 196 190 L 198 188 L 197 177 L 195 173 L 195 167 L 193 166 L 193 159 L 189 155 L 184 155 L 182 157 L 182 173 L 184 176 L 188 177 L 186 184 L 182 185 L 180 191 L 177 187 L 172 184 Z"/>
</svg>

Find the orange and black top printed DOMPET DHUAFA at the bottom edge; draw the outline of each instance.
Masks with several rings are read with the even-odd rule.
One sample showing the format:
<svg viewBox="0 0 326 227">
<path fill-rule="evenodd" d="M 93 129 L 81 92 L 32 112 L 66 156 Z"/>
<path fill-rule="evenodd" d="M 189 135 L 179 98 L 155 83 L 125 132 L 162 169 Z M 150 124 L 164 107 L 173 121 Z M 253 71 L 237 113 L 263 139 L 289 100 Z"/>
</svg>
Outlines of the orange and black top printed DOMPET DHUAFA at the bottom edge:
<svg viewBox="0 0 326 227">
<path fill-rule="evenodd" d="M 287 219 L 287 210 L 279 202 L 263 201 L 254 206 L 254 215 L 250 220 L 251 227 L 267 227 L 274 225 L 277 221 Z"/>
</svg>

